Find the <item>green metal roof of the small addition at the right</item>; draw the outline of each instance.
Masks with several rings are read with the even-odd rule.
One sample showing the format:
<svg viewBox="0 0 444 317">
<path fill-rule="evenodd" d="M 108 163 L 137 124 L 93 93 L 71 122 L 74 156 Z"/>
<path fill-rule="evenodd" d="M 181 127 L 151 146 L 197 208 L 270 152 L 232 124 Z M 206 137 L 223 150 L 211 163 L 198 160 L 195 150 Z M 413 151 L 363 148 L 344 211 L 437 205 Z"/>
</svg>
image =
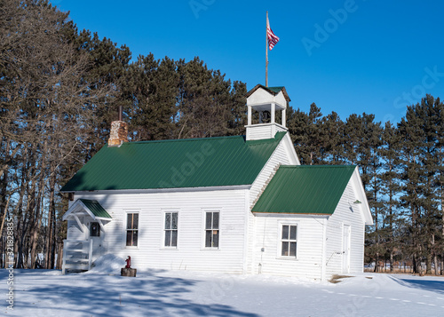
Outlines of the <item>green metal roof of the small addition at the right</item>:
<svg viewBox="0 0 444 317">
<path fill-rule="evenodd" d="M 355 168 L 353 165 L 281 166 L 252 211 L 331 215 Z"/>
</svg>

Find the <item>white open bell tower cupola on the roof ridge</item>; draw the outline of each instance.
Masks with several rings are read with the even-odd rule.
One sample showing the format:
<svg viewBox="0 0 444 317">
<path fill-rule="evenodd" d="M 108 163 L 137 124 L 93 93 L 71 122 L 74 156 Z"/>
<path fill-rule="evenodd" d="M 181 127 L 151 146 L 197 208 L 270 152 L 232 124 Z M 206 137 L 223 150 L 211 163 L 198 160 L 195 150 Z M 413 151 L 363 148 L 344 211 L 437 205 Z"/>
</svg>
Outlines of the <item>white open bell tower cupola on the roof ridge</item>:
<svg viewBox="0 0 444 317">
<path fill-rule="evenodd" d="M 288 131 L 285 111 L 290 101 L 285 87 L 256 85 L 247 95 L 246 139 L 273 139 L 276 132 Z M 280 122 L 277 123 L 277 116 Z"/>
</svg>

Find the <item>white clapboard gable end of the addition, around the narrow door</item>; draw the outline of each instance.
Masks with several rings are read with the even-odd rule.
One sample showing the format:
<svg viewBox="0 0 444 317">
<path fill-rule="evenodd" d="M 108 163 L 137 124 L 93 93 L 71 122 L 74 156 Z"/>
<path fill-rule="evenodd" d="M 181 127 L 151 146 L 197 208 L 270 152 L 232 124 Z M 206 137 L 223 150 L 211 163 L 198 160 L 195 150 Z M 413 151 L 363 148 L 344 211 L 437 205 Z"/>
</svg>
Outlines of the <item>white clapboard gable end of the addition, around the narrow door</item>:
<svg viewBox="0 0 444 317">
<path fill-rule="evenodd" d="M 362 206 L 353 204 L 356 194 L 353 178 L 345 188 L 337 209 L 327 221 L 326 274 L 347 273 L 343 268 L 343 227 L 351 226 L 350 236 L 350 271 L 360 273 L 363 270 L 364 258 L 364 219 Z"/>
</svg>

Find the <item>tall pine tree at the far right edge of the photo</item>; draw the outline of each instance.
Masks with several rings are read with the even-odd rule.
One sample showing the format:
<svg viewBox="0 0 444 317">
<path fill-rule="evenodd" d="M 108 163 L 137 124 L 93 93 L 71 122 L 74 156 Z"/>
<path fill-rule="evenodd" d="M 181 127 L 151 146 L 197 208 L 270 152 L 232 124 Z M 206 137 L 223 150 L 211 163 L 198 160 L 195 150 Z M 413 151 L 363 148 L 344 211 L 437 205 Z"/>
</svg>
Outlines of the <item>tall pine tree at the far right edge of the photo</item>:
<svg viewBox="0 0 444 317">
<path fill-rule="evenodd" d="M 427 95 L 414 106 L 409 106 L 399 123 L 402 135 L 401 202 L 409 212 L 411 254 L 418 271 L 424 259 L 426 273 L 432 272 L 432 254 L 435 237 L 440 235 L 441 212 L 436 191 L 439 173 L 440 100 Z M 439 182 L 439 181 L 438 181 Z"/>
</svg>

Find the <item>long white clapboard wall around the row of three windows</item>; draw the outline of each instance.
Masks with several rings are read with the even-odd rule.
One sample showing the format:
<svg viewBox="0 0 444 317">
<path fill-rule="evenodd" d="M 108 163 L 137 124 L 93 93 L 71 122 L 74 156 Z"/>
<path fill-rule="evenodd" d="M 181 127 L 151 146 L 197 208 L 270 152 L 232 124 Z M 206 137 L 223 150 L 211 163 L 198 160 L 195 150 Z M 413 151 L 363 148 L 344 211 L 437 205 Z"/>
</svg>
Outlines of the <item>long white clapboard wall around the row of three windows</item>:
<svg viewBox="0 0 444 317">
<path fill-rule="evenodd" d="M 244 273 L 247 189 L 145 194 L 77 194 L 95 199 L 113 218 L 105 224 L 105 253 L 131 256 L 135 268 Z M 178 211 L 178 248 L 163 248 L 163 213 Z M 204 248 L 205 210 L 220 211 L 218 250 Z M 139 246 L 125 244 L 126 211 L 139 212 Z"/>
</svg>

